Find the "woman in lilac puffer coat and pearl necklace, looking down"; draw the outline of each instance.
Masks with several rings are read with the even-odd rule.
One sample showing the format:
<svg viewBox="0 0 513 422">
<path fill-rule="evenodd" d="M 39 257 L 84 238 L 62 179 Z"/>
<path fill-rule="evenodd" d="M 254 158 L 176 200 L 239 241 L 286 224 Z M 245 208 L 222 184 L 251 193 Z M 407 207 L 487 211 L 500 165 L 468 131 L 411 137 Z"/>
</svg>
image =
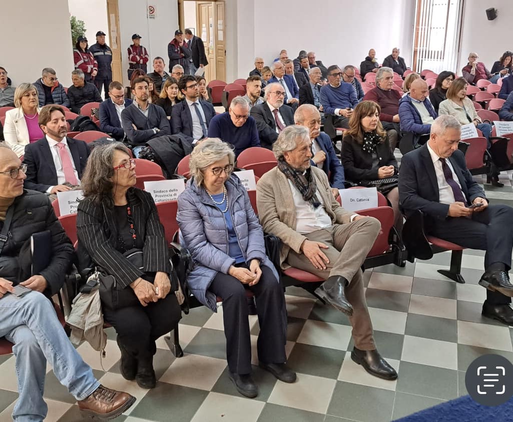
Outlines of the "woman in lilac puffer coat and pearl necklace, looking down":
<svg viewBox="0 0 513 422">
<path fill-rule="evenodd" d="M 260 366 L 285 382 L 295 373 L 285 365 L 287 318 L 283 286 L 265 254 L 264 233 L 249 196 L 232 174 L 235 156 L 228 144 L 207 138 L 190 157 L 192 178 L 178 198 L 176 221 L 194 259 L 187 279 L 191 292 L 213 312 L 223 299 L 230 379 L 246 397 L 256 397 L 251 377 L 251 341 L 246 293 L 256 296 L 260 324 Z"/>
</svg>

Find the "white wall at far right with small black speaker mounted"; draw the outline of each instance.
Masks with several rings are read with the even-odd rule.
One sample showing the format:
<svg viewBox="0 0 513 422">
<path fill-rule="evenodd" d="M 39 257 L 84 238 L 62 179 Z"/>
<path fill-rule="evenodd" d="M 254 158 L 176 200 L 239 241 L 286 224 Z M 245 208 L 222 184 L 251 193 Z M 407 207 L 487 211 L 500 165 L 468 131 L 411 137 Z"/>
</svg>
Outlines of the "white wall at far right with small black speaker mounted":
<svg viewBox="0 0 513 422">
<path fill-rule="evenodd" d="M 495 7 L 497 18 L 488 21 L 485 10 Z M 463 30 L 460 46 L 458 73 L 466 66 L 468 53 L 475 51 L 479 61 L 488 70 L 499 60 L 504 51 L 513 51 L 511 42 L 511 23 L 513 22 L 513 3 L 511 0 L 466 0 L 463 10 Z"/>
</svg>

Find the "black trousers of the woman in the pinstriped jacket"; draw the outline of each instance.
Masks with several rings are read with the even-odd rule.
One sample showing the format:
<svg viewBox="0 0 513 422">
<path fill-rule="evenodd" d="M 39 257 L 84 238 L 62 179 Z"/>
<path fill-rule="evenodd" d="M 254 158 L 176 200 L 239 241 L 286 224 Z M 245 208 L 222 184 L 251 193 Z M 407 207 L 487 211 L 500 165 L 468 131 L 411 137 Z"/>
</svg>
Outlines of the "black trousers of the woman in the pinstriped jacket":
<svg viewBox="0 0 513 422">
<path fill-rule="evenodd" d="M 175 327 L 182 318 L 182 310 L 174 292 L 170 292 L 148 306 L 139 304 L 116 311 L 104 307 L 103 317 L 114 327 L 127 351 L 144 359 L 155 354 L 155 340 Z"/>
</svg>

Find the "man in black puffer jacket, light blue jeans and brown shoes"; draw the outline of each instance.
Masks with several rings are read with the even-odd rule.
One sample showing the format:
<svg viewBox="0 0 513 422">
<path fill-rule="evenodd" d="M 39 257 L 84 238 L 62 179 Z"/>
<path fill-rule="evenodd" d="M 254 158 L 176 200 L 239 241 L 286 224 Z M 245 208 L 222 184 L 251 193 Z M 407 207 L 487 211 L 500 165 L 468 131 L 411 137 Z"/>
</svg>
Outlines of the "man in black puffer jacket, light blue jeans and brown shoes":
<svg viewBox="0 0 513 422">
<path fill-rule="evenodd" d="M 132 406 L 130 394 L 100 385 L 91 368 L 70 343 L 57 319 L 51 296 L 60 290 L 71 265 L 73 246 L 63 231 L 46 195 L 24 190 L 25 165 L 5 144 L 0 144 L 0 337 L 14 343 L 19 397 L 14 420 L 45 419 L 48 407 L 43 399 L 47 361 L 56 378 L 78 400 L 78 408 L 90 416 L 107 419 L 121 415 Z M 30 252 L 23 253 L 31 235 L 49 231 L 51 248 L 48 264 L 32 274 Z M 6 232 L 7 233 L 7 232 Z M 18 259 L 19 258 L 19 259 Z M 27 268 L 28 278 L 17 271 L 7 273 L 7 260 Z M 12 265 L 11 265 L 12 267 Z M 27 290 L 19 296 L 18 290 Z M 86 415 L 86 413 L 84 413 Z"/>
</svg>

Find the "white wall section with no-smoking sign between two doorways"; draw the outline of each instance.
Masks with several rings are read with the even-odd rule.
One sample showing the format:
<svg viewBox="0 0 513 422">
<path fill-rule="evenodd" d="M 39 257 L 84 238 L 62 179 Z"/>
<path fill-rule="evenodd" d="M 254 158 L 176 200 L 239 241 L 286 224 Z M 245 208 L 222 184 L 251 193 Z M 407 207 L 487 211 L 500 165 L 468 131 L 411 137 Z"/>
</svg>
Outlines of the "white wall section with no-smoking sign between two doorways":
<svg viewBox="0 0 513 422">
<path fill-rule="evenodd" d="M 155 18 L 147 17 L 148 4 L 155 6 Z M 142 2 L 119 2 L 120 35 L 123 61 L 124 84 L 128 83 L 128 54 L 127 48 L 132 44 L 132 34 L 142 36 L 141 45 L 148 49 L 150 60 L 148 72 L 153 71 L 153 57 L 161 56 L 169 66 L 167 45 L 174 37 L 178 28 L 178 2 L 177 0 L 151 0 Z M 183 28 L 182 28 L 183 29 Z"/>
</svg>

